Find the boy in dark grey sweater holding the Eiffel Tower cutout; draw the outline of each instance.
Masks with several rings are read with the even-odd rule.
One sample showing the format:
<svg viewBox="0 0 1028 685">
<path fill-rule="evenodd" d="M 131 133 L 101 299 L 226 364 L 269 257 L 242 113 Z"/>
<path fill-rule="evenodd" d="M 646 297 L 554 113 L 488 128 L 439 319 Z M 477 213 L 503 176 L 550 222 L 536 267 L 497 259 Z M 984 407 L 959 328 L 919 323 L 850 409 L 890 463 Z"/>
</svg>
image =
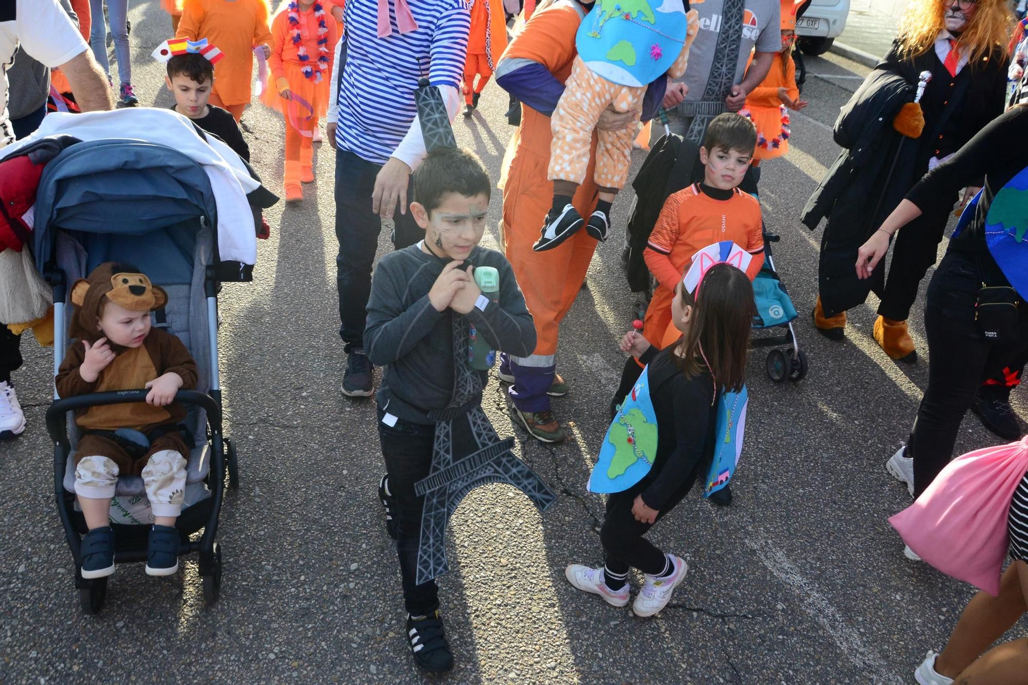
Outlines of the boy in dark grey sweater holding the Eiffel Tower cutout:
<svg viewBox="0 0 1028 685">
<path fill-rule="evenodd" d="M 482 163 L 466 150 L 430 154 L 413 175 L 410 212 L 425 240 L 378 262 L 368 300 L 365 350 L 384 366 L 378 389 L 378 435 L 389 472 L 383 490 L 397 525 L 397 551 L 408 613 L 407 639 L 418 666 L 453 668 L 439 618 L 434 580 L 416 583 L 424 497 L 414 483 L 429 475 L 437 426 L 454 435 L 479 413 L 487 371 L 469 365 L 474 327 L 494 350 L 527 356 L 536 329 L 506 257 L 478 247 L 491 184 Z M 495 298 L 482 295 L 474 269 L 494 267 Z M 457 383 L 457 381 L 461 383 Z M 448 433 L 449 431 L 447 431 Z M 463 456 L 463 455 L 462 455 Z"/>
</svg>

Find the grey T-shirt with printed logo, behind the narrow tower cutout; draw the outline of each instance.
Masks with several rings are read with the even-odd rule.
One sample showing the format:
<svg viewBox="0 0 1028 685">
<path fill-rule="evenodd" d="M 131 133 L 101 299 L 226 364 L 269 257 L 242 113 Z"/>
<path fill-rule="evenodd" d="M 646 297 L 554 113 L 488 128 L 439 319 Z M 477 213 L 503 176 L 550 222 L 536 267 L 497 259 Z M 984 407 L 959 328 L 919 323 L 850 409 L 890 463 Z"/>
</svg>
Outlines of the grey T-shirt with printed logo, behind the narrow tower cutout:
<svg viewBox="0 0 1028 685">
<path fill-rule="evenodd" d="M 728 0 L 729 2 L 737 0 Z M 726 0 L 703 0 L 691 4 L 699 14 L 700 30 L 696 34 L 692 48 L 689 50 L 689 66 L 682 78 L 677 79 L 689 86 L 687 101 L 703 99 L 710 68 L 713 65 L 714 51 L 718 46 L 718 35 L 725 29 L 723 11 Z M 754 47 L 759 52 L 777 52 L 781 49 L 781 25 L 779 14 L 781 6 L 778 0 L 744 0 L 742 15 L 742 34 L 740 36 L 739 60 L 735 69 L 735 82 L 742 81 L 749 61 L 749 52 Z M 722 96 L 727 97 L 726 93 Z"/>
</svg>

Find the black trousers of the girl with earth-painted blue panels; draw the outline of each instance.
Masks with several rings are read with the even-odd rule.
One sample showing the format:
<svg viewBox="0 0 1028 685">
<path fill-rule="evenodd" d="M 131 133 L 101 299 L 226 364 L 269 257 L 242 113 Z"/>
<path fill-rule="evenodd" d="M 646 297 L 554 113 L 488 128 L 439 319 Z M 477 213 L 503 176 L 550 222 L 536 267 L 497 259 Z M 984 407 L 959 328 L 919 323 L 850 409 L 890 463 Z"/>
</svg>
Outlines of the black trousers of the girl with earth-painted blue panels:
<svg viewBox="0 0 1028 685">
<path fill-rule="evenodd" d="M 696 481 L 696 473 L 694 469 L 689 478 L 674 491 L 664 508 L 657 513 L 657 520 L 667 515 L 689 494 Z M 641 524 L 632 515 L 635 497 L 646 490 L 647 485 L 644 483 L 649 482 L 649 478 L 644 478 L 639 484 L 607 498 L 607 516 L 599 530 L 599 541 L 607 552 L 607 568 L 614 573 L 627 573 L 629 568 L 635 568 L 655 576 L 664 570 L 664 552 L 642 537 L 654 524 Z"/>
</svg>

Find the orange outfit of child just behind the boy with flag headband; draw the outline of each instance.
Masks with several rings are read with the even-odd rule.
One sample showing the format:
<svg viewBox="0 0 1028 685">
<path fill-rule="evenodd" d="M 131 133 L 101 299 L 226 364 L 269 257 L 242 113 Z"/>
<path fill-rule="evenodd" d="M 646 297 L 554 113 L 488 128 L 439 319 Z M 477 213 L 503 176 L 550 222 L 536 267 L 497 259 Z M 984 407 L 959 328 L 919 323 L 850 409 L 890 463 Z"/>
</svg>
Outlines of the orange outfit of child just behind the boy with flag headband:
<svg viewBox="0 0 1028 685">
<path fill-rule="evenodd" d="M 270 44 L 265 0 L 184 0 L 176 38 L 207 38 L 225 57 L 214 65 L 211 104 L 223 107 L 238 121 L 252 94 L 257 45 Z"/>
</svg>

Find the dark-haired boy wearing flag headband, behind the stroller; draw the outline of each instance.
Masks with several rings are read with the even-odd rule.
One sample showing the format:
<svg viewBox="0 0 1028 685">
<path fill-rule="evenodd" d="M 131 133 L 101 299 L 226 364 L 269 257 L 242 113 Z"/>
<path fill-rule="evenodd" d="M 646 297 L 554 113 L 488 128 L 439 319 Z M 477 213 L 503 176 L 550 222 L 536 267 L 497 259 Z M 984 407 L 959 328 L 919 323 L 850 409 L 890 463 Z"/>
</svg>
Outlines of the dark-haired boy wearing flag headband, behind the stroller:
<svg viewBox="0 0 1028 685">
<path fill-rule="evenodd" d="M 197 52 L 174 56 L 168 61 L 164 83 L 175 96 L 172 109 L 220 138 L 237 155 L 250 161 L 250 147 L 243 140 L 243 133 L 231 113 L 208 103 L 214 87 L 214 65 L 206 57 Z"/>
</svg>

